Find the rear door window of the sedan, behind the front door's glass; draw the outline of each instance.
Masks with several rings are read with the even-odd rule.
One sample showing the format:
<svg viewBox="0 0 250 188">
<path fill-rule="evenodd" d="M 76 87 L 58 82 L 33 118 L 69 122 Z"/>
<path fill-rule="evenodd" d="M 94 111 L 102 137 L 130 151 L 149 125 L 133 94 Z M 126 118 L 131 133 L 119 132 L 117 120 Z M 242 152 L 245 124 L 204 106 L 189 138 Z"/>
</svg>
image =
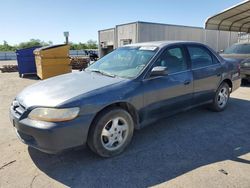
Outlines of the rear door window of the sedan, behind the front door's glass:
<svg viewBox="0 0 250 188">
<path fill-rule="evenodd" d="M 192 62 L 192 68 L 202 68 L 213 65 L 213 56 L 211 53 L 200 46 L 188 46 L 188 52 Z"/>
</svg>

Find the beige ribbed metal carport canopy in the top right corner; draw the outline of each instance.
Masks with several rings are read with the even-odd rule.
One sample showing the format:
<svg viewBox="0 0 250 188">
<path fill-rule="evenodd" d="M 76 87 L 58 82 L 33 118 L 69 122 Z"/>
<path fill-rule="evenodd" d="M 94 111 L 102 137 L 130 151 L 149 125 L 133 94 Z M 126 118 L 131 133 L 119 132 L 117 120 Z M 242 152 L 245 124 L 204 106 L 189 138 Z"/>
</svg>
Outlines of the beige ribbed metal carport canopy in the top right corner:
<svg viewBox="0 0 250 188">
<path fill-rule="evenodd" d="M 250 33 L 250 1 L 226 9 L 206 21 L 206 29 Z"/>
</svg>

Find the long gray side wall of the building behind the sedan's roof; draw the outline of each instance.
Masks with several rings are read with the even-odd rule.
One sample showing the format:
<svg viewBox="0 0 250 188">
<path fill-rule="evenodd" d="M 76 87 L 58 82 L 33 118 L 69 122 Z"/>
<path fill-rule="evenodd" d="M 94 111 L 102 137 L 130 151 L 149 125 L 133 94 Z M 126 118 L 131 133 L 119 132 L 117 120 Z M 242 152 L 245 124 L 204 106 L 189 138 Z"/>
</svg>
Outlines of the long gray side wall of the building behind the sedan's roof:
<svg viewBox="0 0 250 188">
<path fill-rule="evenodd" d="M 138 41 L 185 40 L 207 44 L 216 51 L 238 42 L 237 32 L 205 30 L 198 27 L 138 23 Z"/>
</svg>

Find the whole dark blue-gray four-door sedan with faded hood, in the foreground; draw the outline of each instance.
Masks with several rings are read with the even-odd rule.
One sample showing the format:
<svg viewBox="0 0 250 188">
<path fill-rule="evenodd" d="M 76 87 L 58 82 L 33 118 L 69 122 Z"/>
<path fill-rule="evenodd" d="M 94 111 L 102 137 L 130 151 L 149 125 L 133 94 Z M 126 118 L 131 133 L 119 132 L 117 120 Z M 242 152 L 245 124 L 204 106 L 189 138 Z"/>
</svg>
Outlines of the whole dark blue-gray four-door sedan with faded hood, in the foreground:
<svg viewBox="0 0 250 188">
<path fill-rule="evenodd" d="M 240 66 L 195 42 L 149 42 L 118 48 L 83 72 L 24 89 L 10 107 L 20 140 L 47 153 L 88 145 L 120 154 L 135 129 L 209 104 L 222 111 L 240 86 Z"/>
</svg>

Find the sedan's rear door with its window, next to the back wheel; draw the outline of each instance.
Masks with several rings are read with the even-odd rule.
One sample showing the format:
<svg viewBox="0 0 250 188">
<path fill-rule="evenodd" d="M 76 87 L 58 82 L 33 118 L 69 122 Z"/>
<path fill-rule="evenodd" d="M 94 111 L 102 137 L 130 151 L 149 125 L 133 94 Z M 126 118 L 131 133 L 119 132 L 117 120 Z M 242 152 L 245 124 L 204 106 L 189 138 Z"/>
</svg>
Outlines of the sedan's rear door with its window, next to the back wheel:
<svg viewBox="0 0 250 188">
<path fill-rule="evenodd" d="M 222 76 L 222 66 L 202 45 L 187 45 L 194 79 L 194 104 L 211 100 Z"/>
</svg>

